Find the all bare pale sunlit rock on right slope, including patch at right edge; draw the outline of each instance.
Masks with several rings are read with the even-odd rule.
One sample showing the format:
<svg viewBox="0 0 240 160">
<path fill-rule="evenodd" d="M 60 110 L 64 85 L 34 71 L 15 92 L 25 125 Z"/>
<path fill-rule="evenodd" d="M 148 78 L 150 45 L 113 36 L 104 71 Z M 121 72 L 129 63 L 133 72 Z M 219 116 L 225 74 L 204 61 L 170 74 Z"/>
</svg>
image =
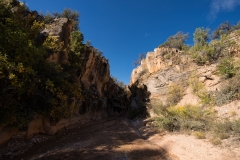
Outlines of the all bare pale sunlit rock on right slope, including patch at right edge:
<svg viewBox="0 0 240 160">
<path fill-rule="evenodd" d="M 240 30 L 228 35 L 225 42 L 231 45 L 226 45 L 223 48 L 224 52 L 238 59 L 234 55 L 240 53 Z M 153 52 L 148 52 L 146 58 L 141 61 L 141 65 L 132 71 L 130 84 L 146 86 L 150 92 L 150 107 L 167 103 L 171 84 L 183 88 L 183 97 L 177 105 L 202 105 L 201 99 L 193 93 L 191 79 L 197 79 L 197 83 L 202 84 L 204 92 L 214 96 L 225 83 L 224 79 L 217 75 L 217 65 L 216 62 L 198 66 L 189 54 L 174 48 L 156 48 Z M 133 100 L 132 104 L 134 104 Z"/>
</svg>

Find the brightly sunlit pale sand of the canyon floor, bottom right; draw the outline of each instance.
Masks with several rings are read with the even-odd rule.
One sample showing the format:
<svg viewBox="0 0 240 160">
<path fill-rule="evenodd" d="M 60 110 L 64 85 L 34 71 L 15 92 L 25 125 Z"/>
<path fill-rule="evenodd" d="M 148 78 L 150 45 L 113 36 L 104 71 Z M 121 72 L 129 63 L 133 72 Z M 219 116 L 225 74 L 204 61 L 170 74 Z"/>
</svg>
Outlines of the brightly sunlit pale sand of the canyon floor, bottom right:
<svg viewBox="0 0 240 160">
<path fill-rule="evenodd" d="M 184 134 L 153 135 L 148 140 L 179 160 L 240 160 L 239 145 L 214 146 L 207 139 Z M 235 140 L 235 143 L 239 142 L 239 139 Z"/>
</svg>

